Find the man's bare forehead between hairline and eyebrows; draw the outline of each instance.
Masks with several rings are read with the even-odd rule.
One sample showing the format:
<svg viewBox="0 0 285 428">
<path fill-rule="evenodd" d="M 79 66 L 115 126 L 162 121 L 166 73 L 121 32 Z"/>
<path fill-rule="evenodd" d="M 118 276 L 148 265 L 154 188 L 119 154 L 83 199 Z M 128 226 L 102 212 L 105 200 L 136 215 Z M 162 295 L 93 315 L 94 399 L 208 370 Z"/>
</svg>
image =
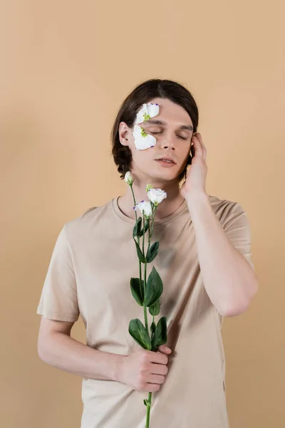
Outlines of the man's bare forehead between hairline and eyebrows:
<svg viewBox="0 0 285 428">
<path fill-rule="evenodd" d="M 174 125 L 193 126 L 192 120 L 187 111 L 178 104 L 173 103 L 167 98 L 152 98 L 151 103 L 157 103 L 160 111 L 153 120 L 161 120 Z M 151 123 L 152 119 L 150 120 Z M 145 122 L 147 124 L 148 121 Z"/>
</svg>

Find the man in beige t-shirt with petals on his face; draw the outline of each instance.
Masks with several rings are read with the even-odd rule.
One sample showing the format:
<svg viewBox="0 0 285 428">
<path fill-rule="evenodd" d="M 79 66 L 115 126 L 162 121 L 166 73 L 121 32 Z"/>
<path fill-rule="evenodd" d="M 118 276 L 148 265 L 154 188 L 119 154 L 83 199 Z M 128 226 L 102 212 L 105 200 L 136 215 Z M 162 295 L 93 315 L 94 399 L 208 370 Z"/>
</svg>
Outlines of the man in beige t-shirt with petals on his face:
<svg viewBox="0 0 285 428">
<path fill-rule="evenodd" d="M 150 103 L 159 113 L 136 122 Z M 81 428 L 144 427 L 147 392 L 153 428 L 229 427 L 222 320 L 247 310 L 258 281 L 246 213 L 207 195 L 197 124 L 192 94 L 152 79 L 125 99 L 112 132 L 114 161 L 121 178 L 133 175 L 136 200 L 147 199 L 147 184 L 167 192 L 153 231 L 160 250 L 149 269 L 155 265 L 164 284 L 160 315 L 170 349 L 143 350 L 128 332 L 131 319 L 142 320 L 130 292 L 130 277 L 138 276 L 130 187 L 66 223 L 58 236 L 38 305 L 38 354 L 83 377 Z M 153 144 L 140 145 L 135 126 Z M 79 314 L 87 345 L 71 337 Z"/>
</svg>

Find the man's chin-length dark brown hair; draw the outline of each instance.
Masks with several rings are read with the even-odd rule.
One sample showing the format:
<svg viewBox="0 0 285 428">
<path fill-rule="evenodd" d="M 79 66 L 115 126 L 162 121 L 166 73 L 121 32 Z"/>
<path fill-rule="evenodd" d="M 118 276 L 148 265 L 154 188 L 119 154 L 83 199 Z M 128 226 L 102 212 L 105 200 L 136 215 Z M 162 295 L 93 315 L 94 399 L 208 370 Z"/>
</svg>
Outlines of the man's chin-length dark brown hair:
<svg viewBox="0 0 285 428">
<path fill-rule="evenodd" d="M 148 103 L 152 98 L 168 98 L 173 103 L 182 106 L 189 114 L 192 124 L 193 133 L 197 132 L 199 121 L 198 107 L 190 91 L 180 83 L 171 80 L 153 78 L 140 83 L 125 98 L 120 106 L 117 117 L 111 131 L 112 154 L 115 165 L 118 166 L 120 178 L 125 177 L 125 173 L 130 170 L 132 153 L 130 148 L 123 146 L 119 138 L 120 122 L 125 122 L 129 128 L 135 123 L 136 113 L 142 107 L 143 103 Z M 187 166 L 191 164 L 192 157 L 189 156 L 184 170 L 179 175 L 179 182 L 187 176 Z"/>
</svg>

